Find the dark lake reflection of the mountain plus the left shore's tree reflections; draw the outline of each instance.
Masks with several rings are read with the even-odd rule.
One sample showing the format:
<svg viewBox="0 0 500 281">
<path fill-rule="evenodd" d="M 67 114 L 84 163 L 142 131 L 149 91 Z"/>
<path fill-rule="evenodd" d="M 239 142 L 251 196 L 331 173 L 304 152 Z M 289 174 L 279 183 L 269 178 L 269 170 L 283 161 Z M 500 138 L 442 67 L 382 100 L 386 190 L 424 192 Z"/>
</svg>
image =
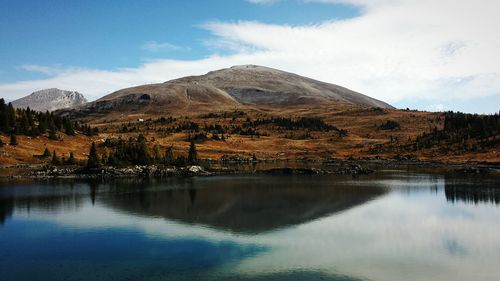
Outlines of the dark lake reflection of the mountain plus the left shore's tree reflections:
<svg viewBox="0 0 500 281">
<path fill-rule="evenodd" d="M 386 192 L 377 186 L 353 188 L 332 182 L 332 178 L 290 176 L 172 179 L 168 183 L 122 180 L 69 186 L 45 183 L 17 189 L 10 194 L 15 197 L 5 197 L 9 196 L 5 192 L 0 197 L 2 221 L 13 208 L 67 211 L 78 209 L 87 198 L 94 205 L 99 196 L 100 203 L 125 212 L 241 233 L 305 223 Z"/>
</svg>

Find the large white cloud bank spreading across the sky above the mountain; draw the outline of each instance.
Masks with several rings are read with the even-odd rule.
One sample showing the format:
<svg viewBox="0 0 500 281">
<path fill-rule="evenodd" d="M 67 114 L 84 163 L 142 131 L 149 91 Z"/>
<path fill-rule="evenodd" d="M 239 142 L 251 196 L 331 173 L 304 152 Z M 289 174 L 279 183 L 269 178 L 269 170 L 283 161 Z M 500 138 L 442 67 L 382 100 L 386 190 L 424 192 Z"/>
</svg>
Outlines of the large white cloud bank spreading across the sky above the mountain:
<svg viewBox="0 0 500 281">
<path fill-rule="evenodd" d="M 45 80 L 0 84 L 0 95 L 19 97 L 62 87 L 98 97 L 123 87 L 251 63 L 336 83 L 390 103 L 418 99 L 421 109 L 432 104 L 454 109 L 454 101 L 476 98 L 498 100 L 500 31 L 495 27 L 500 25 L 500 2 L 309 1 L 353 4 L 364 12 L 305 26 L 210 22 L 203 28 L 214 35 L 211 47 L 229 49 L 232 55 L 60 73 Z M 484 105 L 486 111 L 498 110 L 492 106 Z"/>
</svg>

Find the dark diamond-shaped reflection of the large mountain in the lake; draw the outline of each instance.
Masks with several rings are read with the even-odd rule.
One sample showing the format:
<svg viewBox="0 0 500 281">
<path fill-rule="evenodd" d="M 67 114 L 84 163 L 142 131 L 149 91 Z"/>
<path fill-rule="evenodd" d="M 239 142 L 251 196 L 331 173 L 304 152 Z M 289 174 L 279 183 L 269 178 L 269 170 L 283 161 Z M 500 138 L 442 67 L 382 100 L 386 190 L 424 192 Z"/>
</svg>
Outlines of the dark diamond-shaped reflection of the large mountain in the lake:
<svg viewBox="0 0 500 281">
<path fill-rule="evenodd" d="M 190 179 L 176 187 L 135 194 L 121 186 L 103 202 L 140 215 L 260 233 L 341 212 L 385 192 L 380 187 L 335 184 L 331 178 L 286 176 Z"/>
</svg>

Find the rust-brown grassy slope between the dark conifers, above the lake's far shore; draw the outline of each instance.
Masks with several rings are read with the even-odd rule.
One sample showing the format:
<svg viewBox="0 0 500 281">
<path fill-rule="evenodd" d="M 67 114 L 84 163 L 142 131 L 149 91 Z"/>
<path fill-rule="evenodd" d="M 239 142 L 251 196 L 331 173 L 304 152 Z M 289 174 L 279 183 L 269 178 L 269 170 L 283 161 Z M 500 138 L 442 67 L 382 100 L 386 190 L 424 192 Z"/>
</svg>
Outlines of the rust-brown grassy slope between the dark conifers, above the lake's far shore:
<svg viewBox="0 0 500 281">
<path fill-rule="evenodd" d="M 258 130 L 267 133 L 269 136 L 251 137 L 236 134 L 228 135 L 225 142 L 208 140 L 197 144 L 199 154 L 203 158 L 218 159 L 222 155 L 241 155 L 250 157 L 253 154 L 259 159 L 345 159 L 355 158 L 393 158 L 398 153 L 391 149 L 384 149 L 376 153 L 370 153 L 369 148 L 376 144 L 389 144 L 391 136 L 393 145 L 405 144 L 414 140 L 417 135 L 443 126 L 441 113 L 416 112 L 404 110 L 384 110 L 383 112 L 362 108 L 359 106 L 323 106 L 315 108 L 289 108 L 286 110 L 276 110 L 271 108 L 249 109 L 245 111 L 246 116 L 232 120 L 231 118 L 201 118 L 200 115 L 191 115 L 188 119 L 178 117 L 182 121 L 193 121 L 199 123 L 201 127 L 205 124 L 234 125 L 242 124 L 246 118 L 255 120 L 256 118 L 267 118 L 271 116 L 284 116 L 289 118 L 301 116 L 321 117 L 328 124 L 341 129 L 348 130 L 348 136 L 340 138 L 336 132 L 311 132 L 311 139 L 293 140 L 290 136 L 298 136 L 306 132 L 299 131 L 276 131 L 272 126 L 262 126 Z M 161 114 L 152 115 L 128 115 L 129 121 L 134 122 L 134 126 L 140 127 L 140 133 L 146 135 L 148 140 L 161 146 L 162 152 L 168 146 L 173 145 L 176 153 L 186 153 L 189 143 L 188 133 L 165 134 L 158 133 L 157 129 L 165 127 L 152 125 L 147 130 L 144 123 L 136 122 L 137 118 L 161 117 Z M 166 116 L 168 117 L 168 116 Z M 377 127 L 387 120 L 394 120 L 401 124 L 400 130 L 377 130 Z M 128 123 L 125 122 L 125 123 Z M 177 121 L 179 123 L 179 121 Z M 85 159 L 88 147 L 92 141 L 102 141 L 106 137 L 137 136 L 139 132 L 119 133 L 119 128 L 124 122 L 109 122 L 97 119 L 93 125 L 101 128 L 98 137 L 89 138 L 81 134 L 76 136 L 63 136 L 62 141 L 49 140 L 46 136 L 28 138 L 18 136 L 19 145 L 16 147 L 5 145 L 0 148 L 0 161 L 3 165 L 15 163 L 44 163 L 46 159 L 39 159 L 34 155 L 41 154 L 45 147 L 50 151 L 56 150 L 59 156 L 66 157 L 70 152 L 74 152 L 77 159 Z M 169 125 L 167 125 L 169 126 Z M 288 137 L 288 138 L 287 138 Z M 8 136 L 1 136 L 4 143 L 8 143 Z M 396 140 L 397 139 L 397 140 Z M 401 151 L 399 154 L 402 154 Z M 460 153 L 439 153 L 435 149 L 424 149 L 419 151 L 405 151 L 405 155 L 411 155 L 422 160 L 439 160 L 450 162 L 500 162 L 500 148 L 494 147 L 479 152 Z"/>
</svg>

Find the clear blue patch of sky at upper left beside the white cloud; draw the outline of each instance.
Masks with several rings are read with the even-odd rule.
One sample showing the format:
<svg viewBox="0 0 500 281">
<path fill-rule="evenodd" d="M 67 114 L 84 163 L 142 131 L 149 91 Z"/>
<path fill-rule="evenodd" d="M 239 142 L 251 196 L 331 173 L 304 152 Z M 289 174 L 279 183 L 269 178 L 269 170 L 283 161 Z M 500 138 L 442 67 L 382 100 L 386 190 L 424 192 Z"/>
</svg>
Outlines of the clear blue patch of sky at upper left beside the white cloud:
<svg viewBox="0 0 500 281">
<path fill-rule="evenodd" d="M 22 65 L 115 69 L 158 58 L 200 59 L 228 50 L 210 46 L 206 22 L 252 20 L 315 24 L 356 16 L 343 4 L 300 1 L 1 1 L 0 82 L 43 78 Z M 147 46 L 156 46 L 147 47 Z"/>
</svg>

